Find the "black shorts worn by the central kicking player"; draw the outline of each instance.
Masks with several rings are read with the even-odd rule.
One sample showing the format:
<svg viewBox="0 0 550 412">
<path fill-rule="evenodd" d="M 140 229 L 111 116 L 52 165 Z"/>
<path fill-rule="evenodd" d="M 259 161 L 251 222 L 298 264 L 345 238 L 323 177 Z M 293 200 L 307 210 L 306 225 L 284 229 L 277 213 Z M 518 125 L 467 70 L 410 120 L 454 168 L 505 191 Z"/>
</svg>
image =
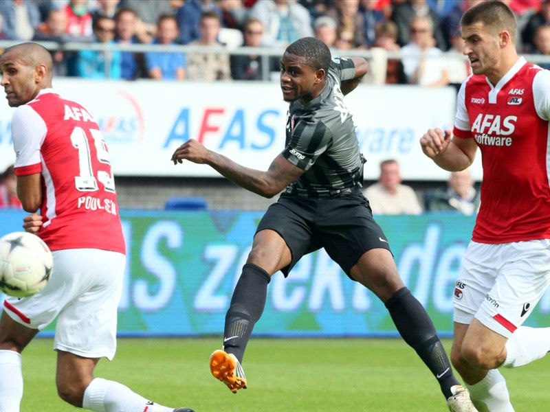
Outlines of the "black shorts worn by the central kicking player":
<svg viewBox="0 0 550 412">
<path fill-rule="evenodd" d="M 281 269 L 285 277 L 303 255 L 322 247 L 347 275 L 366 251 L 390 250 L 361 193 L 333 198 L 281 194 L 265 212 L 256 233 L 263 229 L 279 233 L 292 252 L 291 264 Z"/>
</svg>

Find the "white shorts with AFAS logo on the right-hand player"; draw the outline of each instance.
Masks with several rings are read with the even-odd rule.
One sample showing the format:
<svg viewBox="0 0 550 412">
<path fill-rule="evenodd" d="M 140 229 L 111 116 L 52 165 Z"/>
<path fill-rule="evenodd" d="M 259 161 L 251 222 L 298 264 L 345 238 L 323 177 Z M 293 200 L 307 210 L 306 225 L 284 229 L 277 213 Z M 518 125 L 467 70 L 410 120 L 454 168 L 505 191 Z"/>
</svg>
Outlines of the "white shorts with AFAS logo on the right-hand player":
<svg viewBox="0 0 550 412">
<path fill-rule="evenodd" d="M 454 321 L 475 317 L 509 338 L 550 285 L 550 240 L 470 242 L 454 288 Z"/>
</svg>

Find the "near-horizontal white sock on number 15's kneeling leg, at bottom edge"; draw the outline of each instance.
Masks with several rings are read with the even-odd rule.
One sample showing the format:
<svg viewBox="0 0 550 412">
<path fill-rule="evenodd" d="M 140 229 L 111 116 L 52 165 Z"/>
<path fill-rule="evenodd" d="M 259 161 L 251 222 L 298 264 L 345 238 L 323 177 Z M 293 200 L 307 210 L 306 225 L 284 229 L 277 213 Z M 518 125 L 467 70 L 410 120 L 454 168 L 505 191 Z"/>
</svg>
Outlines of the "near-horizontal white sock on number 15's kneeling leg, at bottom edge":
<svg viewBox="0 0 550 412">
<path fill-rule="evenodd" d="M 113 380 L 95 378 L 84 391 L 83 408 L 95 412 L 173 412 Z"/>
</svg>

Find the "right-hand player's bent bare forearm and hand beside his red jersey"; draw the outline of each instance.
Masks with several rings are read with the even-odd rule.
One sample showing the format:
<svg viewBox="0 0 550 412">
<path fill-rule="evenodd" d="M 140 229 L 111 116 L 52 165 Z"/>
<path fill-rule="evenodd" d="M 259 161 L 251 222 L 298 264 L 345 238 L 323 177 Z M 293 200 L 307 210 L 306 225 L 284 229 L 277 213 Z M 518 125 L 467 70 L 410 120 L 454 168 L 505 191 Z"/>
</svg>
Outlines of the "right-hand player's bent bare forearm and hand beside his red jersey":
<svg viewBox="0 0 550 412">
<path fill-rule="evenodd" d="M 428 129 L 420 138 L 420 146 L 424 155 L 450 172 L 459 172 L 470 166 L 477 150 L 474 139 L 452 137 L 450 130 L 440 128 Z"/>
</svg>

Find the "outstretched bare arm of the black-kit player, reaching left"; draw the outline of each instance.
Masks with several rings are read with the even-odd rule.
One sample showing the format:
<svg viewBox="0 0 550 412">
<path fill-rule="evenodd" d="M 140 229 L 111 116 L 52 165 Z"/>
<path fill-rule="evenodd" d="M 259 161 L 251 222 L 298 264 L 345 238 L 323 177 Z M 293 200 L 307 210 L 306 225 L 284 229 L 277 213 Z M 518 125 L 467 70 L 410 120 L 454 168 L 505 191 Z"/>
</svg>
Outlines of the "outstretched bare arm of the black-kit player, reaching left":
<svg viewBox="0 0 550 412">
<path fill-rule="evenodd" d="M 203 163 L 225 176 L 227 179 L 266 198 L 272 198 L 280 193 L 289 183 L 295 181 L 305 172 L 278 155 L 271 163 L 267 172 L 246 168 L 235 163 L 228 157 L 208 150 L 194 139 L 179 146 L 172 155 L 174 164 L 184 160 L 193 163 Z"/>
</svg>

